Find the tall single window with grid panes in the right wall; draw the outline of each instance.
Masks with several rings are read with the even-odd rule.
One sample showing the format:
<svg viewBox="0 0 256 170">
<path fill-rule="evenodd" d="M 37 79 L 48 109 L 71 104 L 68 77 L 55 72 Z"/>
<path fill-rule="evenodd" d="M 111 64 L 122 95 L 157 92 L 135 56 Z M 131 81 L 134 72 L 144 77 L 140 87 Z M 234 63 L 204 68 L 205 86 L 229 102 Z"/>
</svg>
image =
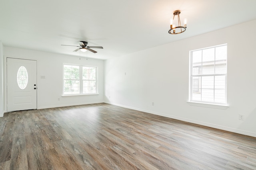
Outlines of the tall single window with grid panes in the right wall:
<svg viewBox="0 0 256 170">
<path fill-rule="evenodd" d="M 190 102 L 226 104 L 227 45 L 190 51 Z"/>
</svg>

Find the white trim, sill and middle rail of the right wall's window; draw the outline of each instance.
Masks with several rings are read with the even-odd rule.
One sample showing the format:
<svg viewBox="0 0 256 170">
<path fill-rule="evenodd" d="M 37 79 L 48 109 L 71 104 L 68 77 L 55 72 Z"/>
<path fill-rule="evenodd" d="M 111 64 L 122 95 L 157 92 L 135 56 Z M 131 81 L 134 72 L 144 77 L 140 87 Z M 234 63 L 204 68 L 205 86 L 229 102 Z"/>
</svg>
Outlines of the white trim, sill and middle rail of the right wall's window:
<svg viewBox="0 0 256 170">
<path fill-rule="evenodd" d="M 201 74 L 200 76 L 226 76 L 225 77 L 225 103 L 217 103 L 217 102 L 206 102 L 206 101 L 198 101 L 198 100 L 191 100 L 192 98 L 192 62 L 191 62 L 191 53 L 192 51 L 200 51 L 203 49 L 210 49 L 210 48 L 216 48 L 216 47 L 221 47 L 227 44 L 222 44 L 222 45 L 216 45 L 216 46 L 212 46 L 212 47 L 206 47 L 206 48 L 202 48 L 202 49 L 196 49 L 196 50 L 191 50 L 189 51 L 189 101 L 187 102 L 188 104 L 192 105 L 192 106 L 201 106 L 201 107 L 211 107 L 211 108 L 217 108 L 217 109 L 227 109 L 229 106 L 227 105 L 227 75 L 228 73 L 226 72 L 226 74 Z M 226 59 L 227 60 L 227 59 Z M 214 60 L 214 64 L 215 64 L 216 60 Z M 228 63 L 226 63 L 226 67 L 228 66 Z M 194 75 L 194 76 L 198 76 L 198 75 Z"/>
</svg>

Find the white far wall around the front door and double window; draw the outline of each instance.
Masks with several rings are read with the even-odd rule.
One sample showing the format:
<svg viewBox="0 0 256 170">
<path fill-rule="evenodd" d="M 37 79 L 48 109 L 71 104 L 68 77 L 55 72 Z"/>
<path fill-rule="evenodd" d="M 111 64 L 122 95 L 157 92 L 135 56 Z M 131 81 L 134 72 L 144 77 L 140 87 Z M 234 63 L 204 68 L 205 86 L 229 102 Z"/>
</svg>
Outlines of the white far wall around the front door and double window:
<svg viewBox="0 0 256 170">
<path fill-rule="evenodd" d="M 74 57 L 68 55 L 59 55 L 54 53 L 45 53 L 26 49 L 4 47 L 4 59 L 6 57 L 18 59 L 31 59 L 37 61 L 37 87 L 38 109 L 74 106 L 81 104 L 93 104 L 104 102 L 104 61 Z M 63 63 L 82 64 L 98 66 L 98 95 L 85 96 L 65 96 L 62 97 L 63 86 Z M 6 68 L 5 68 L 6 70 Z M 45 76 L 41 78 L 41 76 Z M 5 74 L 6 77 L 6 74 Z M 6 94 L 6 90 L 5 90 Z M 6 95 L 5 95 L 6 96 Z M 58 101 L 60 98 L 60 101 Z M 6 111 L 6 103 L 5 103 Z"/>
</svg>

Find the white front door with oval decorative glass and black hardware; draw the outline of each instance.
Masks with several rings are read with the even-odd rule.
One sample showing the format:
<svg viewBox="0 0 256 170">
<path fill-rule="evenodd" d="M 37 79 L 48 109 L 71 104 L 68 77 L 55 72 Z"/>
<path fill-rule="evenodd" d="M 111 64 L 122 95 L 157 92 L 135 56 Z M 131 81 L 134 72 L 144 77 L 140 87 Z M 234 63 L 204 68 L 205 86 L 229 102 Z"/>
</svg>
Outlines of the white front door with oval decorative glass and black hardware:
<svg viewBox="0 0 256 170">
<path fill-rule="evenodd" d="M 7 111 L 36 108 L 36 61 L 7 58 Z"/>
</svg>

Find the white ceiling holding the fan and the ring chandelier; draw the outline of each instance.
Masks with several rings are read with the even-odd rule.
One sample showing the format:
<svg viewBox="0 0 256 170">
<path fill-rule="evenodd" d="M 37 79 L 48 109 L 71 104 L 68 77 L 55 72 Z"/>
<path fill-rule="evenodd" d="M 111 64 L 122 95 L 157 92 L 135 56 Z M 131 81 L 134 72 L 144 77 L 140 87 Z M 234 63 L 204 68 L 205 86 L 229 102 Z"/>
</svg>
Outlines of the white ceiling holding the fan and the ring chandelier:
<svg viewBox="0 0 256 170">
<path fill-rule="evenodd" d="M 18 47 L 110 59 L 256 19 L 256 0 L 1 0 L 0 41 Z M 170 35 L 181 10 L 187 30 Z M 254 28 L 241 28 L 241 31 Z M 73 52 L 87 41 L 98 53 Z"/>
</svg>

